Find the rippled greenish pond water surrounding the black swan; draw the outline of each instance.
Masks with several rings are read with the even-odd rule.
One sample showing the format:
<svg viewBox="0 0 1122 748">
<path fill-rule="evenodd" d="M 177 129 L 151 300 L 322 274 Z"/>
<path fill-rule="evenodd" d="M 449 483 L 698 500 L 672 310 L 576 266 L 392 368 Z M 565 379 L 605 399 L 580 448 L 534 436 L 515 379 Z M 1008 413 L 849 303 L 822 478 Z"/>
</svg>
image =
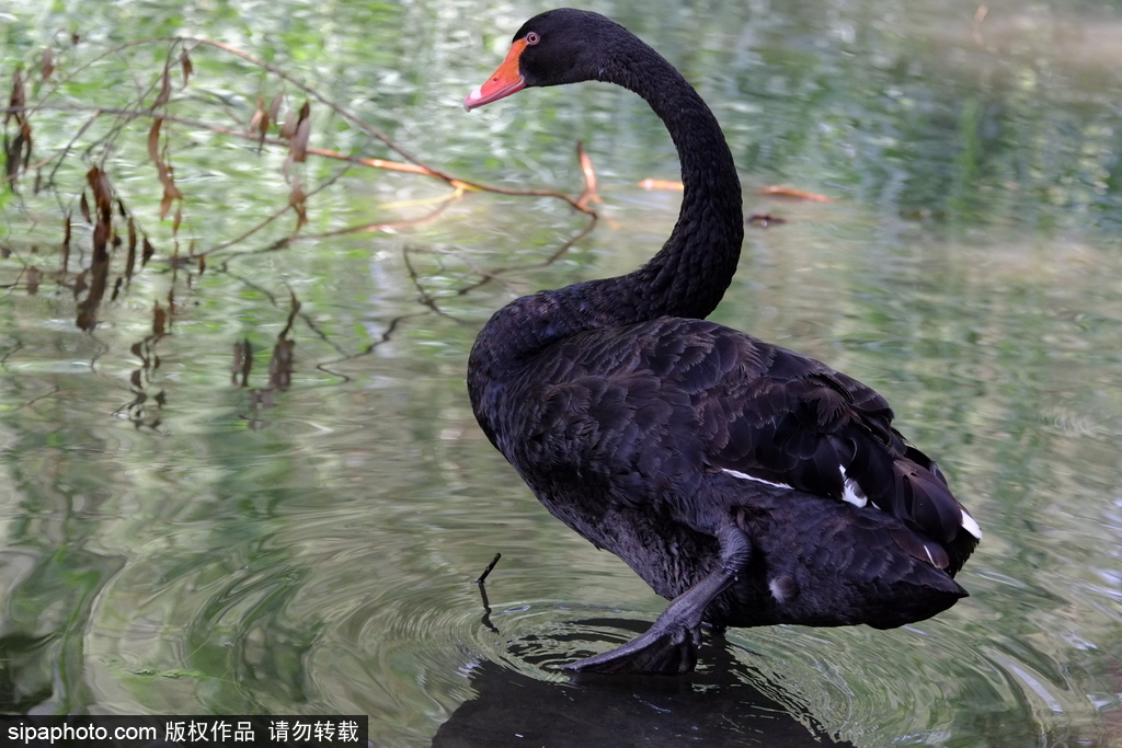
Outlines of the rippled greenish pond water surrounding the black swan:
<svg viewBox="0 0 1122 748">
<path fill-rule="evenodd" d="M 885 395 L 985 538 L 936 619 L 730 630 L 690 676 L 573 682 L 555 666 L 665 603 L 537 505 L 463 375 L 515 295 L 657 249 L 661 124 L 599 84 L 465 113 L 537 7 L 162 4 L 0 0 L 4 101 L 21 65 L 42 104 L 0 188 L 0 710 L 368 714 L 395 747 L 1122 746 L 1116 6 L 590 4 L 698 85 L 770 216 L 714 318 Z M 403 160 L 334 102 L 512 191 L 579 194 L 582 140 L 599 219 L 286 164 L 241 137 L 277 94 L 312 102 L 312 147 Z"/>
</svg>

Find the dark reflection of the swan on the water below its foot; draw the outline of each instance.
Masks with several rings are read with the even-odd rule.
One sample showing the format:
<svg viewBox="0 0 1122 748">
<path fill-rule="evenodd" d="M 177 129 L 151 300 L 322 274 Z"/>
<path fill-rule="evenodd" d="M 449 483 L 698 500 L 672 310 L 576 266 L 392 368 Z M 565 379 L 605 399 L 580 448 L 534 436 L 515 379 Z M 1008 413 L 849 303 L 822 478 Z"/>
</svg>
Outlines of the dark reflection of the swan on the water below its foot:
<svg viewBox="0 0 1122 748">
<path fill-rule="evenodd" d="M 641 621 L 572 621 L 567 630 L 627 628 Z M 576 638 L 580 638 L 579 636 Z M 571 646 L 573 641 L 563 643 Z M 578 646 L 591 644 L 578 641 Z M 523 637 L 509 654 L 534 665 L 559 641 Z M 835 741 L 799 704 L 797 694 L 775 698 L 754 682 L 758 675 L 733 656 L 724 641 L 701 648 L 707 667 L 683 677 L 580 675 L 580 686 L 531 677 L 482 659 L 469 669 L 475 696 L 440 727 L 434 748 L 506 746 L 772 746 L 821 748 Z M 543 654 L 545 653 L 545 654 Z"/>
</svg>

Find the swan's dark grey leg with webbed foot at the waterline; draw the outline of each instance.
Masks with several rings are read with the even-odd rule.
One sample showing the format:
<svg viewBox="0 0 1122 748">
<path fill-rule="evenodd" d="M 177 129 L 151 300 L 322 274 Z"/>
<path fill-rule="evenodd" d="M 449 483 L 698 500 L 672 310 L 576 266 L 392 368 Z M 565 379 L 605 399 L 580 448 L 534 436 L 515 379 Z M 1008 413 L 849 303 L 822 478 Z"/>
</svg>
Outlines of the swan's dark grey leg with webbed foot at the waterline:
<svg viewBox="0 0 1122 748">
<path fill-rule="evenodd" d="M 564 665 L 564 669 L 656 675 L 677 675 L 693 669 L 701 645 L 701 618 L 709 603 L 736 581 L 752 553 L 748 536 L 734 525 L 723 527 L 717 539 L 720 566 L 674 598 L 645 634 L 610 652 Z"/>
</svg>

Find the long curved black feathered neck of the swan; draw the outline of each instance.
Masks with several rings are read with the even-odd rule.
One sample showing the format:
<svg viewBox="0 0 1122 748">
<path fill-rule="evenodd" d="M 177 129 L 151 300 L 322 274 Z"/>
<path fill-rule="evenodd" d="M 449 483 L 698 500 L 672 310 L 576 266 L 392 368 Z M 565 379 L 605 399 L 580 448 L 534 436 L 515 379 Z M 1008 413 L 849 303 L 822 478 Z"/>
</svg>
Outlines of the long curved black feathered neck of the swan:
<svg viewBox="0 0 1122 748">
<path fill-rule="evenodd" d="M 682 167 L 681 211 L 642 268 L 519 298 L 491 317 L 472 349 L 469 388 L 519 370 L 577 333 L 660 316 L 705 317 L 736 271 L 744 239 L 741 184 L 725 137 L 692 86 L 638 39 L 624 40 L 596 77 L 641 95 L 665 123 Z"/>
</svg>

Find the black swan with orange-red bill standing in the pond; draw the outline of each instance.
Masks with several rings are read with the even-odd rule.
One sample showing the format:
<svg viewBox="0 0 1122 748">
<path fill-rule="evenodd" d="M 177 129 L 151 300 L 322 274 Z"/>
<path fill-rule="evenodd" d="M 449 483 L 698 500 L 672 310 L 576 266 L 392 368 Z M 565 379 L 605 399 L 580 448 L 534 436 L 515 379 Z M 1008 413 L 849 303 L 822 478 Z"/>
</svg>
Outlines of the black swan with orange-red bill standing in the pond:
<svg viewBox="0 0 1122 748">
<path fill-rule="evenodd" d="M 479 425 L 545 508 L 672 599 L 646 634 L 568 665 L 693 668 L 701 624 L 892 628 L 946 610 L 982 532 L 872 389 L 705 317 L 736 271 L 741 185 L 720 127 L 651 47 L 558 9 L 465 100 L 616 83 L 681 160 L 681 213 L 642 268 L 524 296 L 476 339 Z"/>
</svg>

